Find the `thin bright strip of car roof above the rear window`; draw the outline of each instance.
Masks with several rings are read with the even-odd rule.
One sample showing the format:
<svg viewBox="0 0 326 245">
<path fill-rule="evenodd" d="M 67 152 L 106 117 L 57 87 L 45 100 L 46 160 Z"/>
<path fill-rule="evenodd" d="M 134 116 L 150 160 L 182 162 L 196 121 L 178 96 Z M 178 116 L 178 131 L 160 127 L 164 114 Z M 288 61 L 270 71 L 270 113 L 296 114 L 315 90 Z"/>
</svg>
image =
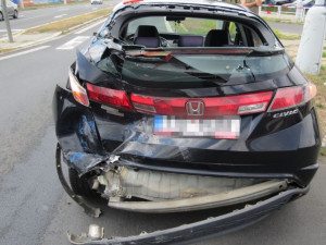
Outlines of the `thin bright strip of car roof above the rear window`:
<svg viewBox="0 0 326 245">
<path fill-rule="evenodd" d="M 127 1 L 127 0 L 125 0 Z M 216 8 L 225 8 L 225 9 L 231 9 L 234 11 L 247 11 L 250 12 L 248 10 L 248 8 L 244 8 L 240 4 L 234 4 L 234 3 L 228 3 L 228 2 L 222 2 L 222 1 L 214 1 L 214 0 L 134 0 L 135 2 L 130 3 L 124 3 L 124 1 L 122 1 L 121 3 L 118 3 L 115 10 L 118 10 L 123 7 L 129 5 L 129 4 L 137 4 L 137 5 L 147 5 L 147 4 L 186 4 L 186 5 L 205 5 L 205 7 L 216 7 Z"/>
</svg>

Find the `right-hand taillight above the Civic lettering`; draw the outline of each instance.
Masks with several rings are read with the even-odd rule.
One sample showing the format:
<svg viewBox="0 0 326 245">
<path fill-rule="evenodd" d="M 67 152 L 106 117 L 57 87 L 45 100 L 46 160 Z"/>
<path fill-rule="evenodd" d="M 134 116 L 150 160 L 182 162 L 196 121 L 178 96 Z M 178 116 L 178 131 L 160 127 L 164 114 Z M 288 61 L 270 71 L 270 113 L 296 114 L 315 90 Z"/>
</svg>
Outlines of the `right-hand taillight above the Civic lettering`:
<svg viewBox="0 0 326 245">
<path fill-rule="evenodd" d="M 301 87 L 279 88 L 268 111 L 284 110 L 300 106 L 311 100 L 317 93 L 316 86 L 308 83 Z"/>
</svg>

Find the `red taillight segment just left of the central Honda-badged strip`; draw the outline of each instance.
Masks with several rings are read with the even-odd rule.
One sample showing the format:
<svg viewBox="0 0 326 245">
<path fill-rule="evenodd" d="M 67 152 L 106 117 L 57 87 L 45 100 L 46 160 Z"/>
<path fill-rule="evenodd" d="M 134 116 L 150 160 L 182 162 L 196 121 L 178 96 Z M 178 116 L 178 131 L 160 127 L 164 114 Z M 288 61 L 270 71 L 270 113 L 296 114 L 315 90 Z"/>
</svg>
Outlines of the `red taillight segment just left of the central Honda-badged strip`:
<svg viewBox="0 0 326 245">
<path fill-rule="evenodd" d="M 87 84 L 88 97 L 95 101 L 131 110 L 133 106 L 125 91 Z"/>
</svg>

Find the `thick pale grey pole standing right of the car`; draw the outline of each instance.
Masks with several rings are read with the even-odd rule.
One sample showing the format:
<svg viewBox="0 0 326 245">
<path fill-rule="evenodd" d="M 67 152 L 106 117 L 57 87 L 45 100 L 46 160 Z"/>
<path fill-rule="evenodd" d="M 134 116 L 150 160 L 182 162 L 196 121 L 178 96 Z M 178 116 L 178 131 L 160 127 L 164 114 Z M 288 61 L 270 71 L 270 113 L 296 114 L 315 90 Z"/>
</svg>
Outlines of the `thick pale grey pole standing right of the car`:
<svg viewBox="0 0 326 245">
<path fill-rule="evenodd" d="M 319 74 L 325 34 L 326 7 L 324 0 L 316 0 L 305 16 L 296 60 L 296 64 L 302 72 L 313 75 Z"/>
</svg>

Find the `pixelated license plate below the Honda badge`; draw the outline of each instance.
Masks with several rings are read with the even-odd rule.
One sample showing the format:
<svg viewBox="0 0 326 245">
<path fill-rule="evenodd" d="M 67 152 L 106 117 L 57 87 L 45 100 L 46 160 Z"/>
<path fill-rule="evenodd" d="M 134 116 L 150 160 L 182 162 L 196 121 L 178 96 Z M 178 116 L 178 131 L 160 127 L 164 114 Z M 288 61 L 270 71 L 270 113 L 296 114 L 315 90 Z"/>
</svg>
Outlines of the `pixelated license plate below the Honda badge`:
<svg viewBox="0 0 326 245">
<path fill-rule="evenodd" d="M 155 115 L 154 135 L 191 136 L 236 139 L 240 134 L 240 117 L 215 119 L 181 119 L 174 115 Z"/>
</svg>

